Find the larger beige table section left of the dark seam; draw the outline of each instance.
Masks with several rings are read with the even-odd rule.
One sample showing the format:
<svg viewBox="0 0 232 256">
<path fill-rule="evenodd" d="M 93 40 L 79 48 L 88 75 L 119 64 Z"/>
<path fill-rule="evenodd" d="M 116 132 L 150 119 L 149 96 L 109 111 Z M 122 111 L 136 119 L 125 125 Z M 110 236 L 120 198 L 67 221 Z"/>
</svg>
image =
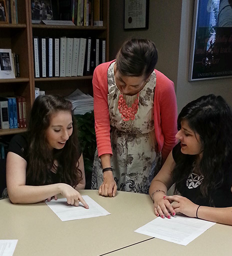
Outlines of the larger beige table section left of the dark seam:
<svg viewBox="0 0 232 256">
<path fill-rule="evenodd" d="M 61 221 L 44 203 L 12 204 L 0 200 L 0 239 L 18 239 L 14 256 L 101 255 L 149 238 L 134 232 L 152 220 L 148 195 L 118 192 L 103 197 L 97 190 L 80 190 L 110 215 Z"/>
</svg>

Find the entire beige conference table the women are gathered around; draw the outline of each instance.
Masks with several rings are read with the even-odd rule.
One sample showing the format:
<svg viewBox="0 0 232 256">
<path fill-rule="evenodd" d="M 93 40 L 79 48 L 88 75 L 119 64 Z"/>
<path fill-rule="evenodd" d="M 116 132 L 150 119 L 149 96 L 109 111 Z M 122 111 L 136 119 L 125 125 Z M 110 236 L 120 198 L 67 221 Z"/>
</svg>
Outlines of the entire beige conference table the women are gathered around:
<svg viewBox="0 0 232 256">
<path fill-rule="evenodd" d="M 156 216 L 149 195 L 80 190 L 110 215 L 61 221 L 45 202 L 0 200 L 0 239 L 18 239 L 13 255 L 231 255 L 232 226 L 216 223 L 186 246 L 134 232 Z M 68 207 L 68 206 L 67 206 Z"/>
</svg>

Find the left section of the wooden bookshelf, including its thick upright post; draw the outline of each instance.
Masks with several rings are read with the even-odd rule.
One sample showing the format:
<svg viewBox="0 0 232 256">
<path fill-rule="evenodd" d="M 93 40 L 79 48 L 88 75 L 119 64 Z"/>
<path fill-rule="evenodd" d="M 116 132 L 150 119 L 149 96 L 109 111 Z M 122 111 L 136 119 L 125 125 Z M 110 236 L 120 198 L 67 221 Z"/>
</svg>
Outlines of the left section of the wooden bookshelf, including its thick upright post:
<svg viewBox="0 0 232 256">
<path fill-rule="evenodd" d="M 18 24 L 0 23 L 0 48 L 10 48 L 19 55 L 20 77 L 0 79 L 0 96 L 24 96 L 26 116 L 33 102 L 34 84 L 31 69 L 31 20 L 30 1 L 17 0 Z M 23 132 L 26 129 L 0 129 L 0 136 Z"/>
</svg>

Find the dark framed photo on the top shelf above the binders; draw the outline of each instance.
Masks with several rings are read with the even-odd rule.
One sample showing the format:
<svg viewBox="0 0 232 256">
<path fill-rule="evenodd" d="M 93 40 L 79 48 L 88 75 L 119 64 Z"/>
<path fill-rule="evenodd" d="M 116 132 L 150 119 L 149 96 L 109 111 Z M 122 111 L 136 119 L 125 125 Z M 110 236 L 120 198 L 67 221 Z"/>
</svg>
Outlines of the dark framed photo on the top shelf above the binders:
<svg viewBox="0 0 232 256">
<path fill-rule="evenodd" d="M 31 0 L 32 23 L 53 19 L 51 0 Z"/>
</svg>

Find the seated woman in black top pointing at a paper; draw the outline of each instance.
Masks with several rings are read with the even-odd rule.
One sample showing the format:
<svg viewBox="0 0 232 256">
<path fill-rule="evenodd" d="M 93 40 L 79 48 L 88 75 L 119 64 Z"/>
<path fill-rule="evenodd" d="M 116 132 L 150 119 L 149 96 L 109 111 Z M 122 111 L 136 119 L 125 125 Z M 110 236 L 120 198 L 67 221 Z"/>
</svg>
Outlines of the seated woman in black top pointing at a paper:
<svg viewBox="0 0 232 256">
<path fill-rule="evenodd" d="M 6 183 L 13 203 L 49 201 L 61 193 L 68 204 L 81 201 L 88 208 L 76 190 L 84 188 L 85 177 L 70 101 L 56 95 L 36 97 L 28 132 L 10 141 Z"/>
</svg>

